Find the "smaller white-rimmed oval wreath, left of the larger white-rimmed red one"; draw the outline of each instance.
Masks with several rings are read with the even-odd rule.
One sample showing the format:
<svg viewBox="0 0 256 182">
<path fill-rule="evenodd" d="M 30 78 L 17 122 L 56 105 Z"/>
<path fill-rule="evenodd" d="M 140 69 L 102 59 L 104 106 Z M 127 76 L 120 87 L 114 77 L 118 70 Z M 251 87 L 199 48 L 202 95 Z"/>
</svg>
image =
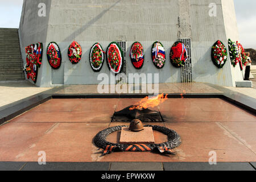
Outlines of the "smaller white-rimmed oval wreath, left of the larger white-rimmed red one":
<svg viewBox="0 0 256 182">
<path fill-rule="evenodd" d="M 100 43 L 95 43 L 90 49 L 90 67 L 94 72 L 100 72 L 104 64 L 104 51 Z"/>
</svg>

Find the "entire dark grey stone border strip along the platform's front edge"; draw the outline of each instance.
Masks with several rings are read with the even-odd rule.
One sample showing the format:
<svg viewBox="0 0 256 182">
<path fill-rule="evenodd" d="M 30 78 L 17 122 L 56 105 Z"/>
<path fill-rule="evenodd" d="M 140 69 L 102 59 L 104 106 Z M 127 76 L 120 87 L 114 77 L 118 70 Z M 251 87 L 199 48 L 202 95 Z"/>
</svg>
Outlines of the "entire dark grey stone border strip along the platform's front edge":
<svg viewBox="0 0 256 182">
<path fill-rule="evenodd" d="M 0 171 L 255 171 L 256 162 L 0 162 Z"/>
</svg>

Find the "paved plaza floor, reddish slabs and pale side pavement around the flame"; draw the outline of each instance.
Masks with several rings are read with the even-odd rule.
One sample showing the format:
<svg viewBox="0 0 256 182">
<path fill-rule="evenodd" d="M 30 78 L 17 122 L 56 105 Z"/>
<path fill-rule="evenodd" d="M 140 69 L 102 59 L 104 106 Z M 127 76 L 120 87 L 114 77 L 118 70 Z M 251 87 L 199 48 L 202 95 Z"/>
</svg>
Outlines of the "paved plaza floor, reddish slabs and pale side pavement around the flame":
<svg viewBox="0 0 256 182">
<path fill-rule="evenodd" d="M 101 150 L 93 143 L 94 136 L 108 127 L 129 125 L 121 122 L 112 123 L 112 115 L 114 111 L 133 105 L 141 98 L 61 98 L 72 95 L 97 95 L 97 85 L 70 85 L 52 89 L 36 88 L 27 82 L 12 82 L 6 85 L 9 86 L 2 86 L 1 92 L 5 89 L 6 92 L 11 90 L 14 96 L 5 94 L 5 97 L 10 97 L 10 102 L 14 103 L 2 106 L 1 110 L 19 104 L 26 100 L 25 97 L 40 96 L 42 93 L 55 94 L 59 98 L 52 98 L 32 107 L 0 126 L 1 162 L 37 162 L 39 151 L 46 152 L 49 163 L 97 162 L 98 169 L 101 164 L 108 166 L 113 162 L 117 163 L 110 165 L 112 168 L 118 166 L 118 162 L 151 162 L 166 165 L 166 168 L 168 163 L 174 162 L 208 163 L 211 151 L 216 152 L 217 162 L 256 162 L 255 113 L 222 98 L 183 98 L 186 95 L 197 94 L 230 94 L 230 97 L 246 97 L 253 101 L 255 109 L 254 88 L 222 88 L 204 83 L 160 84 L 160 93 L 182 93 L 181 98 L 168 98 L 158 107 L 151 108 L 160 111 L 164 122 L 150 124 L 165 126 L 180 134 L 182 144 L 174 149 L 176 155 L 160 155 L 156 152 L 114 152 L 101 156 Z M 18 93 L 24 87 L 31 89 L 31 92 L 21 97 Z M 108 96 L 114 95 L 116 94 Z M 138 94 L 134 94 L 136 95 Z M 107 140 L 117 143 L 118 136 L 118 132 L 112 133 Z M 167 136 L 158 131 L 154 131 L 154 137 L 156 143 L 167 140 Z M 129 168 L 128 164 L 124 166 Z M 156 168 L 157 165 L 153 167 Z"/>
</svg>

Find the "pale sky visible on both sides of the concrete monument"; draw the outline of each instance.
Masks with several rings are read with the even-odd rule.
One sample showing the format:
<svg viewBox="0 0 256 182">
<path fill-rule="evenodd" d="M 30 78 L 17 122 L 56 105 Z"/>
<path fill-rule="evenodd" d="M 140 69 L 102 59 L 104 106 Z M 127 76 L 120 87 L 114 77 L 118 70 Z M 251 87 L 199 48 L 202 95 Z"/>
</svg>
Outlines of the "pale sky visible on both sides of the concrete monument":
<svg viewBox="0 0 256 182">
<path fill-rule="evenodd" d="M 245 48 L 256 48 L 256 1 L 234 0 L 240 41 Z M 0 27 L 18 28 L 23 0 L 0 0 Z"/>
</svg>

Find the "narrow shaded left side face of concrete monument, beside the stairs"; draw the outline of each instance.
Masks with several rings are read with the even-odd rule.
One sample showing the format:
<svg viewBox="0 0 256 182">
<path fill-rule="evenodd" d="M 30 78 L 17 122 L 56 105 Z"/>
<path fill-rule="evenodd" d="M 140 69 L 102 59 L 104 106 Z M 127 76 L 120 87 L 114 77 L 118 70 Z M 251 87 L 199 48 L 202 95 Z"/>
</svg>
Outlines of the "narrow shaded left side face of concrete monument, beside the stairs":
<svg viewBox="0 0 256 182">
<path fill-rule="evenodd" d="M 39 3 L 44 3 L 46 5 L 46 16 L 38 16 Z M 22 52 L 23 64 L 26 64 L 25 48 L 30 44 L 36 44 L 38 42 L 43 43 L 42 66 L 39 68 L 38 81 L 36 82 L 37 86 L 42 87 L 50 86 L 48 80 L 51 77 L 50 72 L 45 72 L 48 67 L 46 58 L 46 39 L 50 11 L 51 0 L 24 0 L 19 24 L 20 50 Z M 34 84 L 34 82 L 32 83 Z"/>
</svg>

